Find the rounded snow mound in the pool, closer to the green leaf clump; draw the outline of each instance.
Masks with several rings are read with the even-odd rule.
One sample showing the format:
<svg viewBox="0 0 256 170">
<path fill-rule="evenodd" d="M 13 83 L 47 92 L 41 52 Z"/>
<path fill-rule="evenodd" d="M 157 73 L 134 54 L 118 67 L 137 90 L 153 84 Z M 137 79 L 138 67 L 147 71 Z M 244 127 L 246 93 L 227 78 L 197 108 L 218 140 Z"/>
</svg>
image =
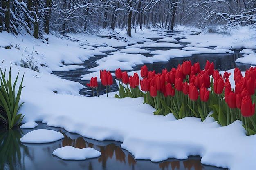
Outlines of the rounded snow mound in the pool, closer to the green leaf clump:
<svg viewBox="0 0 256 170">
<path fill-rule="evenodd" d="M 64 138 L 64 135 L 60 132 L 49 129 L 37 129 L 22 136 L 20 141 L 23 143 L 41 144 L 58 141 L 62 138 Z"/>
</svg>

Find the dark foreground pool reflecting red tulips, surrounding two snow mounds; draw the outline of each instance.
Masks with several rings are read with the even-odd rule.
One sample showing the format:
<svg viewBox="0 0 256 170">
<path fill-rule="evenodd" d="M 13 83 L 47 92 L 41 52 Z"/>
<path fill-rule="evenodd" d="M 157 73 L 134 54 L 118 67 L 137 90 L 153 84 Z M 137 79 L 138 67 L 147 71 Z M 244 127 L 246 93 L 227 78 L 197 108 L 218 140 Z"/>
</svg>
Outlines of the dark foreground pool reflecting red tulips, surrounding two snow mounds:
<svg viewBox="0 0 256 170">
<path fill-rule="evenodd" d="M 48 144 L 24 144 L 20 138 L 35 129 L 51 129 L 63 133 L 64 139 Z M 65 161 L 52 152 L 63 146 L 76 148 L 92 147 L 101 156 L 84 161 Z M 200 163 L 200 157 L 186 160 L 168 159 L 159 163 L 149 160 L 135 160 L 117 141 L 96 141 L 69 133 L 62 128 L 38 123 L 34 129 L 2 130 L 0 133 L 0 170 L 224 170 Z"/>
</svg>

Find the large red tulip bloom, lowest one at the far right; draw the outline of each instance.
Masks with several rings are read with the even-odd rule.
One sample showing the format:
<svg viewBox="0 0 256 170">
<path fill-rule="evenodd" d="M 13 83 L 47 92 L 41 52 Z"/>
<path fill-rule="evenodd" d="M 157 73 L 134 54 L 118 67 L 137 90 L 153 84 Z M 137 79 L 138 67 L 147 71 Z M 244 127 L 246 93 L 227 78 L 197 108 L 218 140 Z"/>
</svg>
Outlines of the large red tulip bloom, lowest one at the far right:
<svg viewBox="0 0 256 170">
<path fill-rule="evenodd" d="M 241 103 L 241 114 L 243 117 L 251 117 L 255 113 L 255 103 L 252 104 L 252 101 L 246 96 L 242 99 Z"/>
</svg>

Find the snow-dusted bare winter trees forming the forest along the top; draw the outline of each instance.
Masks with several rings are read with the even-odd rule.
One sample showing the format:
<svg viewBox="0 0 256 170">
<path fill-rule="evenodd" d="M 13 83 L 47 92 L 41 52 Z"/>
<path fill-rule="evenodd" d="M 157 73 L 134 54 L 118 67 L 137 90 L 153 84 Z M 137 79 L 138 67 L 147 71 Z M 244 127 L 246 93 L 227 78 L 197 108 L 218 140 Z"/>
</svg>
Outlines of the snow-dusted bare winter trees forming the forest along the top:
<svg viewBox="0 0 256 170">
<path fill-rule="evenodd" d="M 101 28 L 173 30 L 175 25 L 212 32 L 256 26 L 256 0 L 1 0 L 0 32 L 97 33 Z"/>
</svg>

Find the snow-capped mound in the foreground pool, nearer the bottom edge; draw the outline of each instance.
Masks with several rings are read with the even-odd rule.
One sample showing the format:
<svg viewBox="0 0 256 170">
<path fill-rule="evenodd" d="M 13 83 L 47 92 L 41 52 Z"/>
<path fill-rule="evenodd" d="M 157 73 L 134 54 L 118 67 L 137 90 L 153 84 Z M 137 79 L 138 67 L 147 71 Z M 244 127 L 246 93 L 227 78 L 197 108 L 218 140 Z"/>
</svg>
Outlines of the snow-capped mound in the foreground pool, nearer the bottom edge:
<svg viewBox="0 0 256 170">
<path fill-rule="evenodd" d="M 74 148 L 73 146 L 64 146 L 57 148 L 52 152 L 53 155 L 65 160 L 85 160 L 101 156 L 101 152 L 94 148 Z"/>
</svg>

